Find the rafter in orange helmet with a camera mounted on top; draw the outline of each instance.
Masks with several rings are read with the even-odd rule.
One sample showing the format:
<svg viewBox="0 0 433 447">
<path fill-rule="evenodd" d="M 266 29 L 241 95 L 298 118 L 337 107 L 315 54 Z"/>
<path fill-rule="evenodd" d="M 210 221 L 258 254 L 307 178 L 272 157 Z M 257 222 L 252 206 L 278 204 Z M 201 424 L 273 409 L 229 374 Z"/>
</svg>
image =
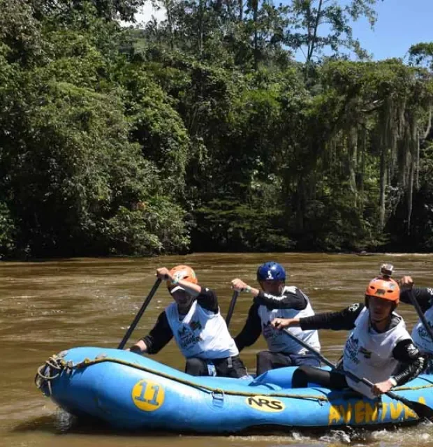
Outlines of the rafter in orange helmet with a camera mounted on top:
<svg viewBox="0 0 433 447">
<path fill-rule="evenodd" d="M 403 318 L 395 313 L 398 303 L 397 282 L 390 277 L 377 277 L 369 282 L 363 303 L 355 303 L 340 312 L 305 318 L 275 318 L 271 324 L 277 329 L 300 326 L 302 330 L 351 330 L 339 369 L 374 383 L 369 388 L 348 379 L 338 369 L 325 371 L 304 365 L 293 373 L 293 388 L 305 387 L 308 383 L 334 389 L 349 386 L 374 399 L 418 376 L 425 366 L 425 358 L 414 346 Z"/>
</svg>

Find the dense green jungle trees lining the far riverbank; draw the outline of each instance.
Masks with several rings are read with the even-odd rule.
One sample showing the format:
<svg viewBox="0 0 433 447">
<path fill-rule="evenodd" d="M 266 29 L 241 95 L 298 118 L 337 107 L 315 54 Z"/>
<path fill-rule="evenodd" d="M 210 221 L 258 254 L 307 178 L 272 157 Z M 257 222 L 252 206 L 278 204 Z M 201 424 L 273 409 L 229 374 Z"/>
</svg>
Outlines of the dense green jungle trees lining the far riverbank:
<svg viewBox="0 0 433 447">
<path fill-rule="evenodd" d="M 0 0 L 1 258 L 433 251 L 433 43 L 373 61 L 377 1 Z"/>
</svg>

